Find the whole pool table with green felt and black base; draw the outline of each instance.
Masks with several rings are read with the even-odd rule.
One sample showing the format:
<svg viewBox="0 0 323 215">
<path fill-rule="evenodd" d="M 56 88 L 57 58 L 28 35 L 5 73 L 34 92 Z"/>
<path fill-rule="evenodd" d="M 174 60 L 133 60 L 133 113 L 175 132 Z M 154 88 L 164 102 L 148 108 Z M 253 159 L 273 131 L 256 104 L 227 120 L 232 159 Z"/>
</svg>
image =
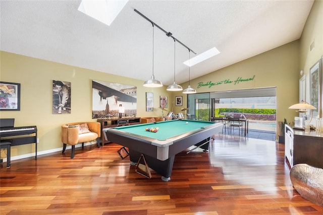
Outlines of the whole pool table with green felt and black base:
<svg viewBox="0 0 323 215">
<path fill-rule="evenodd" d="M 104 128 L 105 139 L 128 147 L 132 165 L 141 154 L 149 168 L 163 181 L 171 178 L 175 155 L 190 146 L 201 145 L 214 134 L 222 132 L 222 123 L 194 120 L 170 120 L 132 126 Z M 159 128 L 157 132 L 146 128 Z M 208 142 L 201 146 L 208 149 Z"/>
</svg>

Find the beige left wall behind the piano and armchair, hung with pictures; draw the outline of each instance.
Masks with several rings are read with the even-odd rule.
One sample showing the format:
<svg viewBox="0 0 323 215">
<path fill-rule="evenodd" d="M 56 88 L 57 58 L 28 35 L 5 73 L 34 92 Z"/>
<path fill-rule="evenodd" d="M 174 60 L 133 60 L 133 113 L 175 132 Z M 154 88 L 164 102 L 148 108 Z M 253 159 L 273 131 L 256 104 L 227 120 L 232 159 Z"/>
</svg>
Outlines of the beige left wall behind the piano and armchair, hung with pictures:
<svg viewBox="0 0 323 215">
<path fill-rule="evenodd" d="M 1 81 L 21 84 L 20 111 L 2 111 L 1 118 L 15 118 L 15 126 L 36 125 L 38 153 L 62 147 L 61 125 L 71 122 L 96 121 L 92 119 L 92 80 L 116 82 L 137 86 L 137 117 L 161 117 L 159 95 L 167 95 L 162 88 L 143 87 L 143 81 L 87 70 L 55 62 L 43 61 L 9 52 L 0 52 Z M 147 79 L 150 75 L 147 74 Z M 71 114 L 52 114 L 52 80 L 71 82 Z M 146 112 L 145 92 L 153 92 L 154 112 Z M 169 102 L 170 105 L 170 102 Z M 15 146 L 15 156 L 34 152 L 34 144 Z M 2 156 L 5 156 L 2 154 Z"/>
</svg>

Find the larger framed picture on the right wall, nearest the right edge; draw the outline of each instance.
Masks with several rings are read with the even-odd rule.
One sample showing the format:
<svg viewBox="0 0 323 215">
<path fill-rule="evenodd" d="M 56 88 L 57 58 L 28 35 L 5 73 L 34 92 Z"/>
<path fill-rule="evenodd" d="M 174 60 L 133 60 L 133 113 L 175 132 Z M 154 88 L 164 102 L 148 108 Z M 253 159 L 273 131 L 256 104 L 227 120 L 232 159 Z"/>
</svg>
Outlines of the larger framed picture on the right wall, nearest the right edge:
<svg viewBox="0 0 323 215">
<path fill-rule="evenodd" d="M 319 68 L 319 62 L 317 61 L 309 69 L 309 93 L 310 93 L 310 104 L 313 105 L 316 110 L 313 110 L 313 119 L 320 116 L 320 102 L 321 102 L 321 72 Z"/>
</svg>

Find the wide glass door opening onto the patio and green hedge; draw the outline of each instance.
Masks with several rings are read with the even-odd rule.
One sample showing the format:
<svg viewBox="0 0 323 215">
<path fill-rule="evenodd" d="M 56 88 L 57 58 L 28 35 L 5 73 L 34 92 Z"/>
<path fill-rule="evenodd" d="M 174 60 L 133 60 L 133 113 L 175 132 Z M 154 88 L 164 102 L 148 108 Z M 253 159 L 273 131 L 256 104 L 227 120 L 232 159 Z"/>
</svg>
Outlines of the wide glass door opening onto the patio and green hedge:
<svg viewBox="0 0 323 215">
<path fill-rule="evenodd" d="M 249 128 L 276 129 L 276 87 L 189 94 L 187 101 L 188 119 L 208 121 L 224 114 L 216 112 L 219 109 L 228 112 L 235 109 L 236 115 L 243 114 L 249 119 Z M 247 113 L 240 112 L 246 109 Z"/>
</svg>

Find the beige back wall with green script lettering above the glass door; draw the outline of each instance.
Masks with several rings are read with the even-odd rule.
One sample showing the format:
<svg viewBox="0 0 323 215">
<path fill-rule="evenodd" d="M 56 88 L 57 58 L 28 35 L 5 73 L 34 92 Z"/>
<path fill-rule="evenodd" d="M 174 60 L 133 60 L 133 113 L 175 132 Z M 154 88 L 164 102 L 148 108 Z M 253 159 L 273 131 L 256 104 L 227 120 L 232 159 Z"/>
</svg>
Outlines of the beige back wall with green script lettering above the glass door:
<svg viewBox="0 0 323 215">
<path fill-rule="evenodd" d="M 295 75 L 298 71 L 298 62 L 299 40 L 191 80 L 191 85 L 198 92 L 276 87 L 277 120 L 283 121 L 284 118 L 287 118 L 291 121 L 294 119 L 294 112 L 289 110 L 288 107 L 298 100 L 298 76 Z M 235 81 L 239 77 L 247 79 L 253 76 L 252 81 L 197 88 L 199 82 L 207 83 L 211 81 L 217 83 L 223 80 Z M 183 84 L 183 86 L 186 86 L 186 84 Z M 186 105 L 186 96 L 184 97 L 184 104 Z"/>
</svg>

